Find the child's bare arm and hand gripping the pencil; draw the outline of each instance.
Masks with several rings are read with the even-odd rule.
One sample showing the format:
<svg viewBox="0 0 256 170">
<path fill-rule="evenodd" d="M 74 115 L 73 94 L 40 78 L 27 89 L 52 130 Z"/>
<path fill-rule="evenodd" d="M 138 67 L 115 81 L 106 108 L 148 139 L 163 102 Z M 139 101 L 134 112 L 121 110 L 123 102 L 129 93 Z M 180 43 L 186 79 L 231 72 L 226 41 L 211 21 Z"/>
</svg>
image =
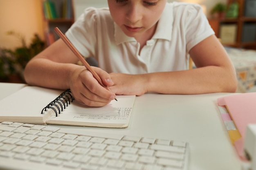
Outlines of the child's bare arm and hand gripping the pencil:
<svg viewBox="0 0 256 170">
<path fill-rule="evenodd" d="M 88 106 L 104 106 L 115 93 L 103 88 L 84 66 L 76 65 L 77 57 L 60 39 L 29 61 L 24 77 L 28 84 L 47 88 L 70 88 L 75 99 Z M 113 85 L 110 75 L 94 70 L 107 86 Z"/>
</svg>

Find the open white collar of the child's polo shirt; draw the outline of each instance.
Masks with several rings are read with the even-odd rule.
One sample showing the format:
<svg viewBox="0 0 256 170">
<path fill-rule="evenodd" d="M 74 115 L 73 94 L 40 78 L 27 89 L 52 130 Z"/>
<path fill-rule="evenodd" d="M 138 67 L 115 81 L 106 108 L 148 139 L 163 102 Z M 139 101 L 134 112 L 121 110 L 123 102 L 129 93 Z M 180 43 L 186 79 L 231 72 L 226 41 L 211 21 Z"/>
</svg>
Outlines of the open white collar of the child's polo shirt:
<svg viewBox="0 0 256 170">
<path fill-rule="evenodd" d="M 115 29 L 115 41 L 117 44 L 123 42 L 136 42 L 135 38 L 128 37 L 122 29 L 114 22 Z M 157 29 L 152 39 L 164 39 L 171 41 L 171 35 L 173 30 L 173 5 L 166 3 L 164 11 L 157 23 Z"/>
</svg>

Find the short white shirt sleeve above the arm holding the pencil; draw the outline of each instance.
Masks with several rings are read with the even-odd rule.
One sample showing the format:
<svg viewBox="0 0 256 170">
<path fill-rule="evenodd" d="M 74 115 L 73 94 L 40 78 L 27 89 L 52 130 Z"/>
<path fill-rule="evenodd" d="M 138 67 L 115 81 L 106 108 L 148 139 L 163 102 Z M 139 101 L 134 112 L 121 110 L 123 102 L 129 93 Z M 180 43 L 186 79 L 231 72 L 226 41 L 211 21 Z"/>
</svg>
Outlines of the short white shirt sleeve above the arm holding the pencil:
<svg viewBox="0 0 256 170">
<path fill-rule="evenodd" d="M 84 57 L 95 55 L 97 41 L 97 12 L 95 8 L 85 9 L 82 15 L 65 33 L 66 37 Z"/>
</svg>

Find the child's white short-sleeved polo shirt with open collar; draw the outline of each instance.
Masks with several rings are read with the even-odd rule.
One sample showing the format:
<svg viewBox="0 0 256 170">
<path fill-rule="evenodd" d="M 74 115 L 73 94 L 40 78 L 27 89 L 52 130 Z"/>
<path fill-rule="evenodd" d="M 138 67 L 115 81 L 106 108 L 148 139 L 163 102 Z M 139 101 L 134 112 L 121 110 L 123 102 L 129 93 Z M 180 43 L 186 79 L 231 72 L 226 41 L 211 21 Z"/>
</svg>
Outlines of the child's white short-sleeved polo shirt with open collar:
<svg viewBox="0 0 256 170">
<path fill-rule="evenodd" d="M 108 73 L 141 74 L 184 70 L 189 50 L 213 35 L 198 4 L 166 3 L 157 29 L 141 49 L 112 20 L 108 8 L 85 9 L 66 32 L 84 57 L 94 57 Z"/>
</svg>

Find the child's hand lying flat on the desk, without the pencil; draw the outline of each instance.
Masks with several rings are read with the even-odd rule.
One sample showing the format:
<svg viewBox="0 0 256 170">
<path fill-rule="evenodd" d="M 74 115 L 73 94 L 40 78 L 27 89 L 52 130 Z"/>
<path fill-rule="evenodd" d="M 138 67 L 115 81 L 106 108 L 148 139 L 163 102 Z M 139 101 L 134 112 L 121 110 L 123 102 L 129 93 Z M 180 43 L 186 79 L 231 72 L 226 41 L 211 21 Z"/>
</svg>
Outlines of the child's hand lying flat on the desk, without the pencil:
<svg viewBox="0 0 256 170">
<path fill-rule="evenodd" d="M 117 95 L 139 96 L 147 92 L 146 77 L 143 75 L 110 73 L 110 76 L 114 85 L 109 88 Z"/>
</svg>

